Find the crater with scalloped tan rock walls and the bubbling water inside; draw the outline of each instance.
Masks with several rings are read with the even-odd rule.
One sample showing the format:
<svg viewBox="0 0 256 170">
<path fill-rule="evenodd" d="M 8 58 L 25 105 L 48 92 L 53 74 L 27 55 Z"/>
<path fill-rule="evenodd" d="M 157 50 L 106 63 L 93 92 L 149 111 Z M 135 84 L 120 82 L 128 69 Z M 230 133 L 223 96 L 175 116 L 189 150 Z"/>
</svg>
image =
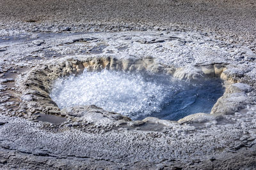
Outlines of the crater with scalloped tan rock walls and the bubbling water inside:
<svg viewBox="0 0 256 170">
<path fill-rule="evenodd" d="M 219 98 L 232 78 L 223 70 L 225 64 L 175 68 L 150 57 L 71 58 L 33 69 L 22 99 L 38 106 L 33 112 L 39 116 L 43 112 L 117 126 L 131 120 L 131 125 L 137 120 L 168 125 L 164 120 L 186 121 L 181 118 L 195 113 L 226 114 L 229 109 L 223 111 L 221 105 L 225 97 Z"/>
</svg>

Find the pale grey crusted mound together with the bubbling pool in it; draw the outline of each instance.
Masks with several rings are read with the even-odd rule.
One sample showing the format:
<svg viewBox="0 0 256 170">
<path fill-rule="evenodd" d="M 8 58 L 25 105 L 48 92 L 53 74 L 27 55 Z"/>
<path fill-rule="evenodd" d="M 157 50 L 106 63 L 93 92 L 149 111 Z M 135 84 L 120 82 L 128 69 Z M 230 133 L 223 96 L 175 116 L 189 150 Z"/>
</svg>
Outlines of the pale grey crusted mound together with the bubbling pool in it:
<svg viewBox="0 0 256 170">
<path fill-rule="evenodd" d="M 255 162 L 248 48 L 202 32 L 17 34 L 19 42 L 0 45 L 1 165 L 218 169 L 216 162 Z"/>
</svg>

